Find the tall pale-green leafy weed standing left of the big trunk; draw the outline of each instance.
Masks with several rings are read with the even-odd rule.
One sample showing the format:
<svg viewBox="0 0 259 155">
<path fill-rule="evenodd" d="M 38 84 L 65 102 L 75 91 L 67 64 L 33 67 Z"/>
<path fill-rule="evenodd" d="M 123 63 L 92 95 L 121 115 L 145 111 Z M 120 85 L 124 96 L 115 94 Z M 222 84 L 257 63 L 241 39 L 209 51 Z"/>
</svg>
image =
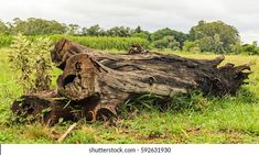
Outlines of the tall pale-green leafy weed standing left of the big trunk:
<svg viewBox="0 0 259 155">
<path fill-rule="evenodd" d="M 13 38 L 9 54 L 10 64 L 12 69 L 20 75 L 17 80 L 24 93 L 50 89 L 51 44 L 48 38 L 39 37 L 31 42 L 21 34 Z"/>
</svg>

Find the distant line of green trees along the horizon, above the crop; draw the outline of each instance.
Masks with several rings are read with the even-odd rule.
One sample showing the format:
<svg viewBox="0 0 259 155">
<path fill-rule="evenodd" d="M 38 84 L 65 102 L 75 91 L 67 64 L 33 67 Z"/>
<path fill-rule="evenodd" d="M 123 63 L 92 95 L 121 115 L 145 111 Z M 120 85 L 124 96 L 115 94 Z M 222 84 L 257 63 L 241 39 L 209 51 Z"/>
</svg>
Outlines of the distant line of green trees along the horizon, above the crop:
<svg viewBox="0 0 259 155">
<path fill-rule="evenodd" d="M 142 30 L 141 26 L 114 26 L 102 29 L 98 24 L 80 27 L 77 24 L 64 24 L 57 21 L 30 18 L 21 20 L 15 18 L 12 22 L 0 21 L 0 34 L 17 35 L 50 35 L 67 34 L 73 36 L 109 36 L 109 37 L 141 37 L 150 42 L 152 48 L 173 49 L 186 52 L 213 52 L 259 54 L 257 42 L 241 44 L 238 30 L 223 21 L 199 21 L 191 27 L 188 33 L 183 33 L 170 27 L 154 32 Z"/>
</svg>

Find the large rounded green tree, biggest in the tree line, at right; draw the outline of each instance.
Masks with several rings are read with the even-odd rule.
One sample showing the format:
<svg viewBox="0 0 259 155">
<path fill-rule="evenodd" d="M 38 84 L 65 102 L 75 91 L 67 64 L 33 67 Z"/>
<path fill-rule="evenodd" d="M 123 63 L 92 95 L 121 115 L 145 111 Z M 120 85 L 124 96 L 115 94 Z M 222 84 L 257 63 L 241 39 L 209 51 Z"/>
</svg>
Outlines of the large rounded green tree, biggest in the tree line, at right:
<svg viewBox="0 0 259 155">
<path fill-rule="evenodd" d="M 190 38 L 198 43 L 202 52 L 227 53 L 233 45 L 240 44 L 237 29 L 222 21 L 199 21 L 191 29 Z"/>
</svg>

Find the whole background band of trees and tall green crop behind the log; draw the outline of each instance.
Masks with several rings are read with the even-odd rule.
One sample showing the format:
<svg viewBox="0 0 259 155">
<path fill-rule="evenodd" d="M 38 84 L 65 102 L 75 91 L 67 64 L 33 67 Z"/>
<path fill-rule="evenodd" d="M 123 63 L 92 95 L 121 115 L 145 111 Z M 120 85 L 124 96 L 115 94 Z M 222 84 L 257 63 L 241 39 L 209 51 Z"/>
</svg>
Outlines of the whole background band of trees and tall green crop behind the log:
<svg viewBox="0 0 259 155">
<path fill-rule="evenodd" d="M 145 48 L 166 48 L 192 53 L 259 54 L 257 45 L 241 45 L 237 29 L 222 21 L 199 21 L 197 25 L 191 29 L 188 34 L 185 34 L 170 27 L 160 29 L 153 33 L 144 31 L 140 26 L 136 29 L 114 26 L 105 30 L 96 24 L 82 29 L 77 24 L 63 24 L 54 20 L 35 18 L 21 20 L 15 18 L 8 23 L 0 21 L 0 47 L 8 47 L 12 42 L 13 35 L 18 33 L 26 35 L 30 41 L 41 36 L 50 36 L 54 42 L 62 37 L 67 37 L 98 49 L 127 51 L 131 44 L 137 43 Z"/>
</svg>

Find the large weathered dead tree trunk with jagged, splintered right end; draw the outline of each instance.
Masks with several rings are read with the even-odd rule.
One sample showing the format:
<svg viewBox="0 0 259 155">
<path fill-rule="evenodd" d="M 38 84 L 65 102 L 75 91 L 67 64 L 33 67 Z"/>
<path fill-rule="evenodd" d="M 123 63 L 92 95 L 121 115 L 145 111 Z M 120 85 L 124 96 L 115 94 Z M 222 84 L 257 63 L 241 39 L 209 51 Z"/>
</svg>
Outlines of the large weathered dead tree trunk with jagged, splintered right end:
<svg viewBox="0 0 259 155">
<path fill-rule="evenodd" d="M 83 111 L 82 115 L 88 120 L 116 115 L 116 108 L 136 95 L 170 97 L 193 89 L 199 89 L 205 95 L 234 95 L 250 74 L 244 73 L 250 70 L 249 65 L 235 67 L 234 64 L 227 64 L 217 67 L 224 56 L 211 60 L 190 59 L 150 53 L 140 46 L 132 47 L 128 54 L 109 54 L 67 40 L 56 44 L 52 59 L 63 70 L 57 79 L 55 96 L 71 100 L 72 109 L 77 106 L 76 110 Z M 39 98 L 39 95 L 34 97 Z M 51 109 L 55 109 L 50 98 L 44 97 L 44 100 L 47 100 Z M 29 98 L 23 101 L 28 102 L 34 101 Z M 55 104 L 66 103 L 62 100 Z M 72 109 L 64 113 L 66 118 L 75 120 L 77 117 Z M 55 123 L 60 118 L 56 115 L 62 114 L 53 112 L 51 115 L 55 115 L 55 119 L 46 120 Z"/>
</svg>

